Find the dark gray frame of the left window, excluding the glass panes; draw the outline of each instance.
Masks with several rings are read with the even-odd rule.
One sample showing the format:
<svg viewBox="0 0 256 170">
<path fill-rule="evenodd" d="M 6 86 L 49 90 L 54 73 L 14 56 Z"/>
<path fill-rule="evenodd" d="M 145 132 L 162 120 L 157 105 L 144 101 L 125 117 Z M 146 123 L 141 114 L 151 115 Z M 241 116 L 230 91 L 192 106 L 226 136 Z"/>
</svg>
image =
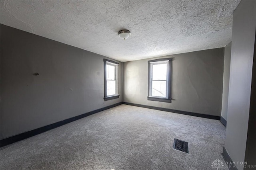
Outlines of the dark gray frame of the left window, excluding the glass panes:
<svg viewBox="0 0 256 170">
<path fill-rule="evenodd" d="M 108 100 L 112 100 L 112 99 L 117 99 L 120 96 L 119 92 L 118 92 L 118 90 L 119 90 L 119 82 L 118 82 L 118 66 L 119 66 L 119 63 L 115 62 L 115 61 L 112 61 L 112 60 L 108 60 L 108 59 L 103 59 L 103 61 L 104 61 L 104 100 L 108 101 Z M 107 96 L 107 62 L 117 65 L 117 67 L 115 68 L 115 72 L 116 72 L 116 75 L 115 75 L 115 78 L 116 78 L 116 94 L 110 95 L 110 96 Z"/>
</svg>

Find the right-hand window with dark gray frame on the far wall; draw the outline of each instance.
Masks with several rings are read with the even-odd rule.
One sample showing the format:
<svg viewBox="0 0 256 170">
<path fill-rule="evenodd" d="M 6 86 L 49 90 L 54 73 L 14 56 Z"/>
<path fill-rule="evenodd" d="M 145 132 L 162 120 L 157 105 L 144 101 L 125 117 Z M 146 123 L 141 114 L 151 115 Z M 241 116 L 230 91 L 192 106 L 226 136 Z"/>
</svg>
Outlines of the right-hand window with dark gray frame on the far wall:
<svg viewBox="0 0 256 170">
<path fill-rule="evenodd" d="M 172 58 L 148 61 L 148 100 L 171 102 Z"/>
</svg>

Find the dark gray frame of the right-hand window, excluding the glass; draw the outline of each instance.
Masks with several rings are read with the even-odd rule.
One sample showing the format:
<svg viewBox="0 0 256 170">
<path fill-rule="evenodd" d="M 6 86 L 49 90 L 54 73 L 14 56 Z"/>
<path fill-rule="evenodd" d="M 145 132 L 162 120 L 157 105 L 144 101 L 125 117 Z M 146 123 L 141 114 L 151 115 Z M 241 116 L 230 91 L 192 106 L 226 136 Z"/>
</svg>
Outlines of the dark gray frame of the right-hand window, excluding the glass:
<svg viewBox="0 0 256 170">
<path fill-rule="evenodd" d="M 160 61 L 168 61 L 167 64 L 167 76 L 166 76 L 166 94 L 167 97 L 158 97 L 158 96 L 150 96 L 152 93 L 152 67 L 150 66 L 151 63 L 160 62 Z M 156 59 L 148 61 L 148 100 L 151 101 L 158 101 L 158 102 L 172 102 L 171 98 L 171 81 L 172 81 L 172 58 L 164 58 L 164 59 Z M 151 92 L 151 93 L 150 93 Z"/>
</svg>

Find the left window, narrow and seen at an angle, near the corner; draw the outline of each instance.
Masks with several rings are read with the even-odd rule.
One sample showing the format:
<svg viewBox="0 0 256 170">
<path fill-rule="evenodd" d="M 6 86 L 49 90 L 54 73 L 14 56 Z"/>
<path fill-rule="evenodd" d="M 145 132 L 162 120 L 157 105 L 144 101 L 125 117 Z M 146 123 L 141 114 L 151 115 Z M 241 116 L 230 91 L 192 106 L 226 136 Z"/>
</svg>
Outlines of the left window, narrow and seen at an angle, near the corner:
<svg viewBox="0 0 256 170">
<path fill-rule="evenodd" d="M 118 65 L 119 63 L 104 59 L 104 99 L 119 98 L 118 94 Z"/>
</svg>

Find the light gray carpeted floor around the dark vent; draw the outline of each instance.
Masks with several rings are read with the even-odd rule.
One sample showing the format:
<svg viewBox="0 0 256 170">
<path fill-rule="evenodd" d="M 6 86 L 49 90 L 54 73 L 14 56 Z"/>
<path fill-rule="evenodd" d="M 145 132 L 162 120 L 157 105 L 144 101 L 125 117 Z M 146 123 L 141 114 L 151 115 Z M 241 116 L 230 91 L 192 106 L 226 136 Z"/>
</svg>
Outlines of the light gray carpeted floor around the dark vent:
<svg viewBox="0 0 256 170">
<path fill-rule="evenodd" d="M 216 170 L 225 136 L 218 120 L 120 105 L 2 147 L 0 169 Z"/>
</svg>

